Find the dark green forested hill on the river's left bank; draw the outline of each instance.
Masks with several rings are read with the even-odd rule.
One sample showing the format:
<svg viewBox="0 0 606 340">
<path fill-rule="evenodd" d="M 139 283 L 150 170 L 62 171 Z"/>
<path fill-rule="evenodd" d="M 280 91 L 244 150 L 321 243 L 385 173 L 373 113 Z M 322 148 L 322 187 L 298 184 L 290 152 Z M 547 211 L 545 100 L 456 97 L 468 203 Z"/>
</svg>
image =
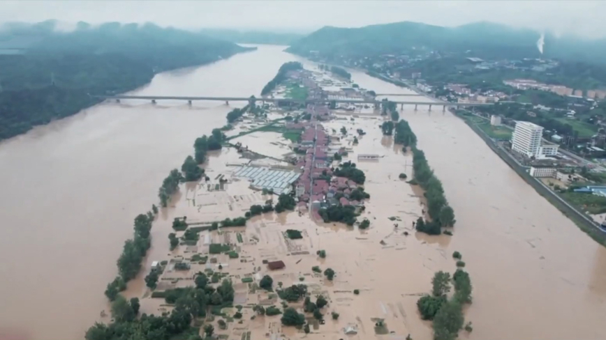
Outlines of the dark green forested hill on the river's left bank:
<svg viewBox="0 0 606 340">
<path fill-rule="evenodd" d="M 20 54 L 2 54 L 18 46 Z M 156 72 L 211 63 L 247 49 L 153 24 L 108 23 L 55 31 L 54 22 L 11 24 L 0 34 L 0 139 L 76 114 L 130 91 Z"/>
</svg>

